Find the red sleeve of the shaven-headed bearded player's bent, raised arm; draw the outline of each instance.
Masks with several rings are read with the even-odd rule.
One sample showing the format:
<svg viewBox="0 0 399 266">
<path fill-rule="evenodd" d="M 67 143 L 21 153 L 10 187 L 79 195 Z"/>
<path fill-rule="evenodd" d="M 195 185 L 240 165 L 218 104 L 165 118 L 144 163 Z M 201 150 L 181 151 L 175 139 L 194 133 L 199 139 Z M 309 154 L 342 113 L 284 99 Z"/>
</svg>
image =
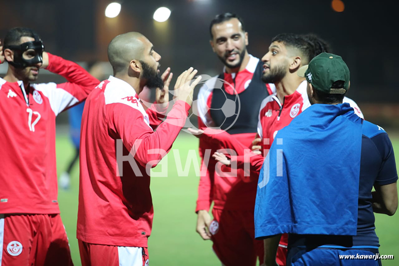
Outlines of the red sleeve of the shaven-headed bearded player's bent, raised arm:
<svg viewBox="0 0 399 266">
<path fill-rule="evenodd" d="M 145 122 L 143 113 L 138 109 L 120 103 L 109 104 L 106 108 L 109 130 L 122 139 L 140 165 L 146 167 L 151 162 L 151 167 L 155 167 L 172 148 L 186 122 L 190 105 L 177 101 L 156 132 Z M 150 150 L 155 153 L 149 154 Z"/>
</svg>

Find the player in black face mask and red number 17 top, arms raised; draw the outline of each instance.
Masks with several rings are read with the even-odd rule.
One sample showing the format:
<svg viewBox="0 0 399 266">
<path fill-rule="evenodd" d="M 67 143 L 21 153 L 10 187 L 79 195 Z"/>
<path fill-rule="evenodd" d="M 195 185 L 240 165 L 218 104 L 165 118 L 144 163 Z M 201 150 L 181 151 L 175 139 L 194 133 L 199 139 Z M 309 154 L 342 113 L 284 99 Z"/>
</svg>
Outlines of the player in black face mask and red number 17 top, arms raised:
<svg viewBox="0 0 399 266">
<path fill-rule="evenodd" d="M 86 99 L 99 81 L 79 65 L 43 51 L 29 28 L 0 44 L 0 264 L 72 265 L 57 202 L 55 118 Z M 62 84 L 32 84 L 40 68 Z"/>
</svg>

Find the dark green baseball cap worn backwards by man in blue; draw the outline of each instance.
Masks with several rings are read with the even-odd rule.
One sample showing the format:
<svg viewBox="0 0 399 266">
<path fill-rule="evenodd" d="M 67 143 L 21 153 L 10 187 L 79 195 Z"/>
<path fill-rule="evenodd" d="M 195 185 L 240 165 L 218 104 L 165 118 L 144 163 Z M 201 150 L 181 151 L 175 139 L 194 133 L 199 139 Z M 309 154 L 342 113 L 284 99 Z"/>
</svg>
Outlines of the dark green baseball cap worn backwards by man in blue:
<svg viewBox="0 0 399 266">
<path fill-rule="evenodd" d="M 349 68 L 342 57 L 332 53 L 323 52 L 315 56 L 308 65 L 300 67 L 298 76 L 305 77 L 313 87 L 328 94 L 344 94 L 349 88 Z M 331 88 L 338 80 L 344 81 L 343 88 Z"/>
</svg>

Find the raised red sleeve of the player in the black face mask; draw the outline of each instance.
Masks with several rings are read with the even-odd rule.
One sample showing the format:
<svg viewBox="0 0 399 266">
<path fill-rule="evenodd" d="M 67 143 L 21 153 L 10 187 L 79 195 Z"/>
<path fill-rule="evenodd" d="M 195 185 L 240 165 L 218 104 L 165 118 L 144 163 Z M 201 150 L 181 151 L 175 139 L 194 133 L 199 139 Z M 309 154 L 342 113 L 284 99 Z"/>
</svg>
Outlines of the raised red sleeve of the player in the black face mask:
<svg viewBox="0 0 399 266">
<path fill-rule="evenodd" d="M 57 84 L 57 88 L 66 90 L 79 102 L 85 100 L 90 91 L 100 83 L 83 67 L 59 56 L 48 53 L 48 63 L 46 67 L 48 71 L 61 75 L 68 80 L 68 82 Z"/>
</svg>

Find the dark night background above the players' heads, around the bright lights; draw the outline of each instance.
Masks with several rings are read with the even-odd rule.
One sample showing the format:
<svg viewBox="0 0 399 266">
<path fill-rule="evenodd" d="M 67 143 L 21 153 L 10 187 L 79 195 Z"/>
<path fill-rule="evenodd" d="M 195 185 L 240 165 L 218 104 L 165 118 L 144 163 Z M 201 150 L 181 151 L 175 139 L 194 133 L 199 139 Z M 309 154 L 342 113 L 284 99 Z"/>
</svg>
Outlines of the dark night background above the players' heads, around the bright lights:
<svg viewBox="0 0 399 266">
<path fill-rule="evenodd" d="M 248 51 L 257 57 L 267 51 L 278 33 L 313 32 L 347 62 L 350 97 L 358 102 L 398 103 L 396 9 L 389 1 L 343 1 L 345 11 L 338 13 L 332 10 L 330 0 L 124 0 L 120 1 L 124 20 L 119 30 L 146 35 L 163 57 L 162 68 L 171 66 L 177 74 L 194 66 L 199 73 L 210 75 L 222 68 L 210 48 L 208 32 L 210 20 L 218 13 L 235 12 L 244 19 Z M 98 23 L 105 19 L 106 0 L 0 2 L 0 38 L 13 26 L 31 27 L 46 50 L 71 60 L 106 60 L 106 44 L 123 32 L 107 31 L 104 23 Z M 165 30 L 157 28 L 152 19 L 160 6 L 172 10 Z"/>
</svg>

